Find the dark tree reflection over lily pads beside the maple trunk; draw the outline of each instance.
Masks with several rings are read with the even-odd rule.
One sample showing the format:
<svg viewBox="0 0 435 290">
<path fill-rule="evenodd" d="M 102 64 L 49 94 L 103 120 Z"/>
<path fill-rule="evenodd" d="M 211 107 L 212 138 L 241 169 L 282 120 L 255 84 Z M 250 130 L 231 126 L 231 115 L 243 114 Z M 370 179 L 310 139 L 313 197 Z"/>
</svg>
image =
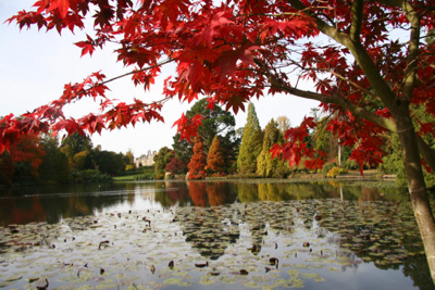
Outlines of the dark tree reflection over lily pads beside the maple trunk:
<svg viewBox="0 0 435 290">
<path fill-rule="evenodd" d="M 375 199 L 377 190 L 363 190 L 364 199 Z M 380 197 L 381 198 L 381 197 Z M 318 207 L 319 209 L 319 207 Z M 427 261 L 409 202 L 330 200 L 321 209 L 320 225 L 334 232 L 338 243 L 356 257 L 373 263 L 381 269 L 398 270 L 402 267 L 420 289 L 433 289 Z M 349 256 L 346 268 L 358 268 Z"/>
</svg>

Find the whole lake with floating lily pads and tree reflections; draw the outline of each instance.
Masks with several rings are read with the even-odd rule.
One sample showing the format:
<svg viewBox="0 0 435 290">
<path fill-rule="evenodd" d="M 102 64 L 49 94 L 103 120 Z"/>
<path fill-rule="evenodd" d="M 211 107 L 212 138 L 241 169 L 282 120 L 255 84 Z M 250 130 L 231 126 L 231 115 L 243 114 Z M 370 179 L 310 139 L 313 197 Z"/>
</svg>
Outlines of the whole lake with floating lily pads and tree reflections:
<svg viewBox="0 0 435 290">
<path fill-rule="evenodd" d="M 434 288 L 389 182 L 50 186 L 0 204 L 4 289 Z"/>
</svg>

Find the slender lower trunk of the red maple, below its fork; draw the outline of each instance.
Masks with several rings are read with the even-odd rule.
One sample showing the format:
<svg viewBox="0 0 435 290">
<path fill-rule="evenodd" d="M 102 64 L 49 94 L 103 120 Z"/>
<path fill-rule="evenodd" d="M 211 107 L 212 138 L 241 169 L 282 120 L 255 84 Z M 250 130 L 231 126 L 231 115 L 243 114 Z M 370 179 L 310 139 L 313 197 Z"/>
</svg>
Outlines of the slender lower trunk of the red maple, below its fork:
<svg viewBox="0 0 435 290">
<path fill-rule="evenodd" d="M 402 110 L 400 115 L 396 118 L 396 124 L 403 153 L 409 193 L 423 240 L 431 277 L 435 283 L 435 220 L 423 178 L 418 136 L 408 109 Z"/>
</svg>

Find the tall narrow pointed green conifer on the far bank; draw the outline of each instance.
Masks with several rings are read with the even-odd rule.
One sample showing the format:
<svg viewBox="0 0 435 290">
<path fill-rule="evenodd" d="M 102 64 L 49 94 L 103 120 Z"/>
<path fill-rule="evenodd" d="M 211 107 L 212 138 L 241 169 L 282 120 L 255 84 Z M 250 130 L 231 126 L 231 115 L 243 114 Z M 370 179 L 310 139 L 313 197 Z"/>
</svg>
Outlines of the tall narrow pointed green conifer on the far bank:
<svg viewBox="0 0 435 290">
<path fill-rule="evenodd" d="M 257 117 L 253 103 L 249 103 L 248 116 L 237 157 L 237 171 L 240 174 L 256 173 L 257 157 L 262 149 L 263 133 Z"/>
</svg>

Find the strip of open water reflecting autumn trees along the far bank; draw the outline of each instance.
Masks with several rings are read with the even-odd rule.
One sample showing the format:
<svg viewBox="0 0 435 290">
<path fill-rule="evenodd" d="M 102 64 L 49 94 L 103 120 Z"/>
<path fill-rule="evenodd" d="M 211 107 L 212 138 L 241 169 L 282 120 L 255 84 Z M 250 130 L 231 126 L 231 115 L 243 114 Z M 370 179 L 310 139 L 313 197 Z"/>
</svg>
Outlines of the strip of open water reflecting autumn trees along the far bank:
<svg viewBox="0 0 435 290">
<path fill-rule="evenodd" d="M 0 189 L 0 225 L 47 222 L 91 215 L 104 209 L 144 206 L 201 207 L 234 202 L 341 198 L 347 201 L 408 201 L 406 189 L 366 188 L 330 182 L 115 182 L 113 185 L 52 186 Z"/>
</svg>

